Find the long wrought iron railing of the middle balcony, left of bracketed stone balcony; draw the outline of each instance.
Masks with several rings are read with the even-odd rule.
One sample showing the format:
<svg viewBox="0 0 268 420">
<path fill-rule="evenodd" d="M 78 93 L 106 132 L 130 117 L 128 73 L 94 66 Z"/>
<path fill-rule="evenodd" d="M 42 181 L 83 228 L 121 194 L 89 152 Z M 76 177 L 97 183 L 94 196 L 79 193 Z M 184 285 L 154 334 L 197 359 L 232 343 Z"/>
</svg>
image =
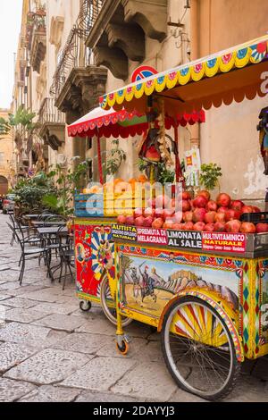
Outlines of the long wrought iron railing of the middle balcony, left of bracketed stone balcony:
<svg viewBox="0 0 268 420">
<path fill-rule="evenodd" d="M 59 97 L 63 86 L 73 68 L 87 67 L 94 64 L 91 50 L 85 46 L 90 30 L 106 0 L 84 0 L 79 17 L 71 29 L 69 37 L 59 57 L 59 63 L 54 72 L 50 95 Z"/>
</svg>

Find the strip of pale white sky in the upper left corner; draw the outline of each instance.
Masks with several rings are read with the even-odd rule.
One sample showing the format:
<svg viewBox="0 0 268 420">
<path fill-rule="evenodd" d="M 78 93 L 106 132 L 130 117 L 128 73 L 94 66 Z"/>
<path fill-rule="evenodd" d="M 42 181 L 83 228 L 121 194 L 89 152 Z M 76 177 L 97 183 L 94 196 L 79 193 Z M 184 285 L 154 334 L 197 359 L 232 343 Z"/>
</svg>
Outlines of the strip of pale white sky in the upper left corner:
<svg viewBox="0 0 268 420">
<path fill-rule="evenodd" d="M 9 108 L 13 97 L 14 53 L 21 30 L 22 0 L 0 0 L 0 108 Z"/>
</svg>

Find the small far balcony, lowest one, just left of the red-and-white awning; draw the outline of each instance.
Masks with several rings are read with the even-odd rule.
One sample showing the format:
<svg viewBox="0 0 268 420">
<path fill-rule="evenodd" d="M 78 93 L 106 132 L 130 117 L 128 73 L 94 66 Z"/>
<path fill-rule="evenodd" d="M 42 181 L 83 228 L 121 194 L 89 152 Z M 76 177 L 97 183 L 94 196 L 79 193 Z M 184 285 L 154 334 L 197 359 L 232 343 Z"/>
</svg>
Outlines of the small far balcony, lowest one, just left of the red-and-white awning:
<svg viewBox="0 0 268 420">
<path fill-rule="evenodd" d="M 38 114 L 39 136 L 45 145 L 58 150 L 65 141 L 65 115 L 54 105 L 54 98 L 44 99 Z"/>
</svg>

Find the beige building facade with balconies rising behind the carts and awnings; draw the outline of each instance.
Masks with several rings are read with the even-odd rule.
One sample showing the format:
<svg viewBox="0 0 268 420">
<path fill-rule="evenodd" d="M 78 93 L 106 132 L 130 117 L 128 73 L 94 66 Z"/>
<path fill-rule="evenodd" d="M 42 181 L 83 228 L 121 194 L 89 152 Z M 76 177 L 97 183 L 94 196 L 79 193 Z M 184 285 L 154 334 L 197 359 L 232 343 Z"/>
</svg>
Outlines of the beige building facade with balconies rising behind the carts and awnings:
<svg viewBox="0 0 268 420">
<path fill-rule="evenodd" d="M 160 72 L 264 35 L 267 12 L 261 0 L 247 7 L 243 0 L 24 0 L 26 44 L 23 54 L 19 46 L 14 103 L 24 101 L 38 114 L 38 133 L 26 149 L 29 166 L 88 158 L 97 180 L 95 139 L 69 139 L 66 123 L 95 108 L 105 92 L 130 83 L 141 64 Z M 204 124 L 180 128 L 180 156 L 200 147 L 203 163 L 222 166 L 222 190 L 235 198 L 264 197 L 256 124 L 265 105 L 264 97 L 211 109 Z M 128 164 L 118 175 L 126 180 L 138 172 L 137 140 L 120 140 Z M 102 139 L 104 160 L 111 145 Z"/>
</svg>

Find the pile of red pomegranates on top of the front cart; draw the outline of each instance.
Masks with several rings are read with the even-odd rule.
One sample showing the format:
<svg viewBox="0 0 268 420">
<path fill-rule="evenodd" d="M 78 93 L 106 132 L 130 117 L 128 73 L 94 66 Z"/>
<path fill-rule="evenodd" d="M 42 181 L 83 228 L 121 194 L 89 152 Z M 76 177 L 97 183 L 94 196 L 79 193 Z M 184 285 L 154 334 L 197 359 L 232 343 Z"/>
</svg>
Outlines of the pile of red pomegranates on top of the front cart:
<svg viewBox="0 0 268 420">
<path fill-rule="evenodd" d="M 180 208 L 180 211 L 176 209 Z M 268 232 L 268 223 L 241 222 L 245 213 L 261 213 L 255 206 L 245 206 L 240 200 L 231 200 L 226 193 L 212 200 L 208 191 L 200 191 L 195 199 L 185 191 L 182 201 L 158 196 L 147 202 L 147 208 L 137 208 L 131 216 L 118 216 L 120 224 L 176 231 L 217 231 L 232 233 Z"/>
</svg>

